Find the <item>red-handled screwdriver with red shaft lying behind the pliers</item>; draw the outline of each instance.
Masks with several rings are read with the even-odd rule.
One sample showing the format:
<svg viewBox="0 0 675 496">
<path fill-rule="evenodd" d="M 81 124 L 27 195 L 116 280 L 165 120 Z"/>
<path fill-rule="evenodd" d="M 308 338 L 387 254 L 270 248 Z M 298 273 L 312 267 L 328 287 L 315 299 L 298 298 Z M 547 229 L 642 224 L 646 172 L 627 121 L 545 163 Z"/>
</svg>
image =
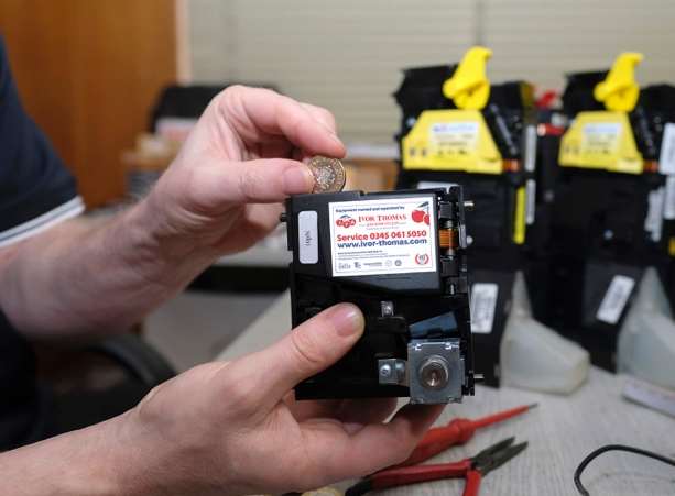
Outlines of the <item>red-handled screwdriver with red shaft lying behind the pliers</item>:
<svg viewBox="0 0 675 496">
<path fill-rule="evenodd" d="M 476 429 L 491 426 L 492 423 L 501 422 L 516 415 L 523 414 L 537 404 L 522 405 L 511 408 L 510 410 L 499 411 L 479 419 L 453 419 L 447 426 L 429 429 L 422 441 L 413 450 L 411 455 L 403 463 L 394 465 L 394 467 L 415 465 L 420 462 L 431 459 L 432 456 L 447 450 L 456 444 L 464 444 L 473 437 Z M 392 467 L 393 469 L 393 467 Z"/>
</svg>

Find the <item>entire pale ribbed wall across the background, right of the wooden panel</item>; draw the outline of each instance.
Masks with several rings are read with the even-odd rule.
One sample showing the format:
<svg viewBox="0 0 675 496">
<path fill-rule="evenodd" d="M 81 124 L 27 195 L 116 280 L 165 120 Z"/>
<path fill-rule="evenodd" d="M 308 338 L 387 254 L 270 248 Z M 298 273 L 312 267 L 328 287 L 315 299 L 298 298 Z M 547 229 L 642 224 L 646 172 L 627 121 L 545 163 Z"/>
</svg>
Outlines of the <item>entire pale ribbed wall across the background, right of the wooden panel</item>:
<svg viewBox="0 0 675 496">
<path fill-rule="evenodd" d="M 563 74 L 645 54 L 641 82 L 675 84 L 673 0 L 190 0 L 195 81 L 271 82 L 329 108 L 348 141 L 391 143 L 404 67 L 457 62 L 480 42 L 493 81 L 563 86 Z"/>
</svg>

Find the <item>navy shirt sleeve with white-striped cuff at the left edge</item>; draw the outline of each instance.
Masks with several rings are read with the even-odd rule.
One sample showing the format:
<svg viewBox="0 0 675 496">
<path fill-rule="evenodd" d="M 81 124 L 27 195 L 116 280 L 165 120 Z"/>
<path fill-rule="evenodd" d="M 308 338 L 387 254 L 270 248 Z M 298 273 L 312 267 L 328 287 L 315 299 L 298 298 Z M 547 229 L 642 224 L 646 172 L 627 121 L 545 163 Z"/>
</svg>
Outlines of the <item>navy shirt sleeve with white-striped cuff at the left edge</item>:
<svg viewBox="0 0 675 496">
<path fill-rule="evenodd" d="M 75 178 L 21 106 L 0 37 L 0 246 L 83 211 Z"/>
</svg>

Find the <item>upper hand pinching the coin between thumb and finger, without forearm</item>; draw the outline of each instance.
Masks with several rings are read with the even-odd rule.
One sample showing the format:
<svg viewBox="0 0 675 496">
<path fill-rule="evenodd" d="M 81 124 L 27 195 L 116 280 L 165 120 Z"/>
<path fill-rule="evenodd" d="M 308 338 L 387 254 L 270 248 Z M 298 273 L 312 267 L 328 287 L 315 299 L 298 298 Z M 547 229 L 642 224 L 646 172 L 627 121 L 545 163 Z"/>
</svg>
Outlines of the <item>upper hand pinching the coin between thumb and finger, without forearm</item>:
<svg viewBox="0 0 675 496">
<path fill-rule="evenodd" d="M 345 155 L 330 112 L 266 89 L 226 89 L 148 198 L 155 235 L 211 257 L 247 249 L 277 224 L 279 202 L 312 191 L 302 163 L 312 155 Z"/>
</svg>

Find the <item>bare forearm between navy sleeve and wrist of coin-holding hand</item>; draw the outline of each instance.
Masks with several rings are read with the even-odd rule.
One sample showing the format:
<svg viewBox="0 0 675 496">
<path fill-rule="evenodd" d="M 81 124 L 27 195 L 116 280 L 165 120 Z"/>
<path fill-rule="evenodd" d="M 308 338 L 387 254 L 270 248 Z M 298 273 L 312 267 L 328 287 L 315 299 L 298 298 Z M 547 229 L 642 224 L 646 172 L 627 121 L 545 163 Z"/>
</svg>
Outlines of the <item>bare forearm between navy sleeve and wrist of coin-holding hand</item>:
<svg viewBox="0 0 675 496">
<path fill-rule="evenodd" d="M 208 265 L 157 235 L 146 202 L 26 240 L 0 265 L 0 306 L 31 338 L 127 329 Z"/>
</svg>

